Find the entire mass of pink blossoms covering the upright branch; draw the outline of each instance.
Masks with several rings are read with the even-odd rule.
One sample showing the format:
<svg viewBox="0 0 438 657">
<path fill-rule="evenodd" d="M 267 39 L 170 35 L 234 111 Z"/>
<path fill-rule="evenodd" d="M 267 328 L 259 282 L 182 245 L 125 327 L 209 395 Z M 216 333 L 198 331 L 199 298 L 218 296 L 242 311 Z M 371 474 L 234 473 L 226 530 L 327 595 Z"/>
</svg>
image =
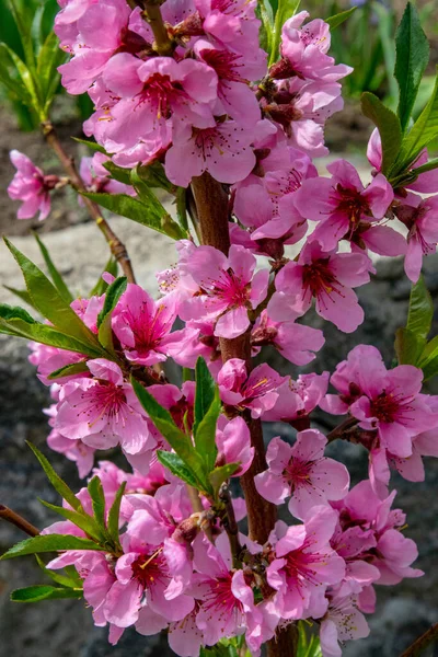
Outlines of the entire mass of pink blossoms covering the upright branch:
<svg viewBox="0 0 438 657">
<path fill-rule="evenodd" d="M 438 397 L 422 392 L 420 369 L 388 369 L 367 345 L 332 374 L 281 376 L 250 360 L 269 346 L 292 366 L 311 364 L 324 345 L 323 331 L 308 325 L 313 302 L 322 319 L 355 332 L 365 319 L 355 289 L 374 273 L 370 254 L 405 256 L 407 276 L 418 280 L 423 255 L 438 242 L 438 196 L 416 193 L 438 193 L 437 171 L 397 186 L 382 173 L 374 131 L 368 184 L 345 160 L 320 175 L 314 159 L 327 154 L 324 125 L 343 106 L 339 81 L 350 69 L 328 55 L 328 24 L 308 21 L 306 11 L 286 21 L 278 61 L 268 67 L 254 0 L 165 0 L 165 51 L 140 7 L 59 4 L 55 31 L 70 55 L 62 84 L 90 95 L 84 131 L 106 153 L 82 160 L 85 188 L 136 195 L 111 177 L 110 161 L 126 170 L 159 163 L 178 187 L 207 172 L 227 194 L 231 246 L 198 244 L 187 231 L 177 263 L 157 273 L 157 299 L 128 283 L 108 314 L 106 357 L 31 344 L 30 360 L 50 387 L 49 447 L 76 461 L 81 477 L 101 480 L 106 514 L 126 482 L 119 550 L 67 550 L 49 568 L 76 567 L 113 644 L 129 626 L 143 635 L 168 630 L 177 655 L 197 657 L 203 646 L 244 636 L 257 657 L 290 623 L 313 619 L 323 657 L 339 657 L 339 642 L 369 632 L 364 613 L 374 611 L 374 585 L 422 575 L 389 486 L 391 469 L 422 481 L 422 457 L 438 457 Z M 423 151 L 413 171 L 427 158 Z M 44 219 L 49 192 L 64 182 L 16 151 L 12 162 L 19 218 L 39 210 Z M 103 292 L 71 303 L 93 336 L 106 301 Z M 250 354 L 228 358 L 224 345 L 235 338 L 247 339 Z M 296 523 L 277 521 L 265 542 L 239 533 L 238 550 L 223 507 L 201 491 L 194 509 L 185 484 L 161 464 L 158 450 L 175 456 L 171 441 L 132 387 L 134 378 L 196 446 L 198 383 L 170 383 L 162 368 L 172 359 L 195 369 L 199 357 L 220 400 L 216 468 L 237 464 L 237 480 L 251 474 L 251 427 L 260 420 L 297 430 L 293 443 L 270 440 L 266 468 L 254 476 L 262 502 L 287 500 Z M 346 417 L 324 436 L 322 412 Z M 337 437 L 369 453 L 368 479 L 353 487 L 345 465 L 325 456 Z M 116 448 L 131 473 L 107 461 L 93 468 L 96 451 Z M 87 488 L 78 498 L 92 514 Z M 245 500 L 231 504 L 242 520 Z M 87 535 L 70 520 L 45 533 Z"/>
</svg>

